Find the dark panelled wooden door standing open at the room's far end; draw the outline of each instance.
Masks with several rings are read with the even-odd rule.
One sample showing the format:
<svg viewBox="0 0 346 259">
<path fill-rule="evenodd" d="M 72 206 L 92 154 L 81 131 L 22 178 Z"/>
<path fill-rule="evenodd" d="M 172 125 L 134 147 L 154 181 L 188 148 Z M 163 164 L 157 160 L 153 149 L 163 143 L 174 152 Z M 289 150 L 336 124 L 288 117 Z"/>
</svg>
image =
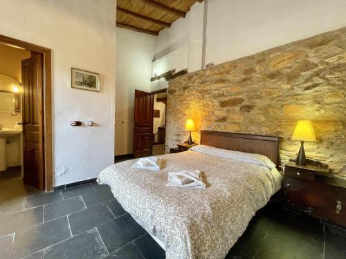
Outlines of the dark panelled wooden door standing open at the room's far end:
<svg viewBox="0 0 346 259">
<path fill-rule="evenodd" d="M 134 95 L 134 157 L 140 157 L 152 153 L 154 98 L 140 90 Z"/>
</svg>

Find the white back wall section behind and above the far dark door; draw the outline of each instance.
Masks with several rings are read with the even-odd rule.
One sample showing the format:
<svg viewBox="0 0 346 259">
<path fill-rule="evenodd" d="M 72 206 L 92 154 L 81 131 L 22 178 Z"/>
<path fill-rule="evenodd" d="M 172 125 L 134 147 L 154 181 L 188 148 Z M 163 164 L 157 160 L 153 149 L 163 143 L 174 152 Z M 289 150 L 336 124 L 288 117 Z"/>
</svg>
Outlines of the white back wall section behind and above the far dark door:
<svg viewBox="0 0 346 259">
<path fill-rule="evenodd" d="M 134 90 L 150 92 L 155 37 L 116 28 L 116 155 L 132 153 Z"/>
</svg>

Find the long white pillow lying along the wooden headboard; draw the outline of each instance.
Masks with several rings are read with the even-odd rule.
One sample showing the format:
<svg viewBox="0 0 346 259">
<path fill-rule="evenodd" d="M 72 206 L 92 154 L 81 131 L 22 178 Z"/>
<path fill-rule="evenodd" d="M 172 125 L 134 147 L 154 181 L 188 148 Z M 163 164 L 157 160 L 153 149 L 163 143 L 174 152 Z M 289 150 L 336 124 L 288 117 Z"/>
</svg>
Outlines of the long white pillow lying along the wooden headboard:
<svg viewBox="0 0 346 259">
<path fill-rule="evenodd" d="M 190 151 L 204 153 L 207 155 L 217 155 L 228 160 L 236 160 L 239 162 L 245 162 L 248 164 L 256 164 L 258 166 L 264 166 L 268 169 L 273 169 L 276 165 L 265 155 L 245 153 L 240 151 L 227 150 L 224 148 L 215 148 L 214 146 L 197 145 L 190 148 Z"/>
</svg>

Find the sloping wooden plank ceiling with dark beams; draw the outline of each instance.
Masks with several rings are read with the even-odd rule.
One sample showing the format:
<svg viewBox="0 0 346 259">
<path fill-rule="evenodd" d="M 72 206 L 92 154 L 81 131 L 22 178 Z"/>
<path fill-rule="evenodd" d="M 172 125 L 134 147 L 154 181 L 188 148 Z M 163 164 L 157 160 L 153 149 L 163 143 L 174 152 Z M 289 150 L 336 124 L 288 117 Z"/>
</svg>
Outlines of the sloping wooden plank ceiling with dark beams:
<svg viewBox="0 0 346 259">
<path fill-rule="evenodd" d="M 203 0 L 118 0 L 116 26 L 158 35 L 160 30 L 184 18 L 194 3 Z"/>
</svg>

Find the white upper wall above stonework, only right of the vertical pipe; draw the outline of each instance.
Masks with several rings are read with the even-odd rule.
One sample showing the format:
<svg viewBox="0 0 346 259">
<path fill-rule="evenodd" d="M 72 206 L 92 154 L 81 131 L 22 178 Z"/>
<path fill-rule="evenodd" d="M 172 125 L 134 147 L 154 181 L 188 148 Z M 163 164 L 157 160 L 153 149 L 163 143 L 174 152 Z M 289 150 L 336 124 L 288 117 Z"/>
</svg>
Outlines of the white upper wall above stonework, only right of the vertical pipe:
<svg viewBox="0 0 346 259">
<path fill-rule="evenodd" d="M 207 0 L 206 64 L 346 26 L 345 0 Z"/>
</svg>

